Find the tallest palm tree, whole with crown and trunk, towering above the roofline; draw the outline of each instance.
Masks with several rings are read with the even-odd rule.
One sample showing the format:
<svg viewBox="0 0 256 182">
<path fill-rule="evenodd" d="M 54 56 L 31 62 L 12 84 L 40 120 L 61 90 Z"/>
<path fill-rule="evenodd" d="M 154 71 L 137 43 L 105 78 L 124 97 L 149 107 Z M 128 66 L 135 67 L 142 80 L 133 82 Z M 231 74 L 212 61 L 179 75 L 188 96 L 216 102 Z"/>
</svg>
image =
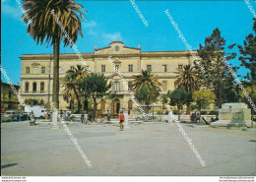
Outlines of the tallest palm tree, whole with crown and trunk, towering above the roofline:
<svg viewBox="0 0 256 182">
<path fill-rule="evenodd" d="M 32 35 L 32 39 L 37 44 L 53 45 L 53 94 L 52 102 L 55 108 L 59 108 L 59 49 L 60 42 L 64 41 L 64 46 L 71 45 L 77 41 L 78 33 L 83 37 L 81 21 L 86 17 L 82 14 L 86 12 L 84 7 L 74 0 L 24 0 L 23 8 L 27 14 L 23 15 L 24 23 L 29 24 L 27 32 Z M 54 15 L 63 25 L 68 36 L 59 27 Z M 86 12 L 87 13 L 87 12 Z M 30 17 L 27 19 L 26 17 Z M 72 40 L 72 41 L 71 41 Z"/>
</svg>

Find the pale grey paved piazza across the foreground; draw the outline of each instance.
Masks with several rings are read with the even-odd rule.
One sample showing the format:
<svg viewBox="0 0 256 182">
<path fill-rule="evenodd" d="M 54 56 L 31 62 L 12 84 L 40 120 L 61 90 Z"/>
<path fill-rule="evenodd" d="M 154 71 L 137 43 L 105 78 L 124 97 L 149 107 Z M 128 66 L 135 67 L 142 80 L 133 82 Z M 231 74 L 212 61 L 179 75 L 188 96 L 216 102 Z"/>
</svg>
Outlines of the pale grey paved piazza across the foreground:
<svg viewBox="0 0 256 182">
<path fill-rule="evenodd" d="M 63 127 L 3 123 L 2 175 L 255 175 L 255 129 L 182 127 L 205 167 L 175 124 L 133 125 L 124 131 L 114 125 L 69 125 L 92 161 L 88 167 Z"/>
</svg>

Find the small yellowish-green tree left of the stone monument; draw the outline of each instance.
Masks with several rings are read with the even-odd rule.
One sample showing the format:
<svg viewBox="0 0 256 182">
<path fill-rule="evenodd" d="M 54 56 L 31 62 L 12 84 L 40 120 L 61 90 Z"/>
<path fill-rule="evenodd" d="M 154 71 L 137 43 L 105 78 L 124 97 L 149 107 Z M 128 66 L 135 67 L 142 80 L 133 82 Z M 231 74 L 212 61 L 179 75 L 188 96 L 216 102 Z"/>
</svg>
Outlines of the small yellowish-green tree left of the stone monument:
<svg viewBox="0 0 256 182">
<path fill-rule="evenodd" d="M 213 91 L 202 90 L 193 93 L 193 100 L 197 103 L 200 111 L 206 108 L 209 104 L 214 103 L 216 95 Z"/>
</svg>

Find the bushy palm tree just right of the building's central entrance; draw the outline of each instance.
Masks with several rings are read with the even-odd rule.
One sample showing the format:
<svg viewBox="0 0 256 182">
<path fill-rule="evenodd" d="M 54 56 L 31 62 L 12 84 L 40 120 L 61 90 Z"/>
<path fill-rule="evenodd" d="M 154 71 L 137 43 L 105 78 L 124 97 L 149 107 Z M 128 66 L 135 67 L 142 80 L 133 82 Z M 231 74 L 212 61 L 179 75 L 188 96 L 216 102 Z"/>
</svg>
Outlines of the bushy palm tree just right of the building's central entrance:
<svg viewBox="0 0 256 182">
<path fill-rule="evenodd" d="M 150 103 L 157 101 L 160 95 L 160 82 L 158 77 L 150 71 L 142 70 L 142 74 L 134 76 L 132 90 L 135 91 L 136 98 L 147 105 L 147 112 L 150 110 Z"/>
</svg>

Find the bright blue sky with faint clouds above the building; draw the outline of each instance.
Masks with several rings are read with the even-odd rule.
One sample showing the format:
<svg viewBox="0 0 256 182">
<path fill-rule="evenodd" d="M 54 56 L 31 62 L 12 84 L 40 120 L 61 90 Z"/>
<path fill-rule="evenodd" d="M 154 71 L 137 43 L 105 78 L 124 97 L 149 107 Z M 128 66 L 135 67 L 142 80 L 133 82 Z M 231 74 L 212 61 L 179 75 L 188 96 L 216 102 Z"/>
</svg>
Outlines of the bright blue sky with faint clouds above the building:
<svg viewBox="0 0 256 182">
<path fill-rule="evenodd" d="M 22 1 L 22 0 L 21 0 Z M 204 44 L 205 37 L 219 28 L 226 45 L 243 44 L 245 36 L 252 33 L 253 14 L 244 1 L 135 1 L 140 12 L 148 21 L 143 24 L 130 1 L 83 1 L 76 0 L 88 11 L 83 20 L 83 37 L 76 45 L 83 52 L 94 52 L 108 46 L 116 39 L 126 46 L 141 46 L 141 51 L 187 50 L 178 33 L 172 27 L 164 11 L 172 16 L 192 49 Z M 12 83 L 21 83 L 21 57 L 23 54 L 52 53 L 53 47 L 37 45 L 28 26 L 21 19 L 22 11 L 15 0 L 1 1 L 1 66 Z M 250 1 L 256 10 L 256 1 Z M 234 49 L 237 52 L 237 49 Z M 61 44 L 60 53 L 75 53 Z M 232 66 L 239 66 L 236 57 Z M 237 75 L 248 71 L 240 67 Z M 3 82 L 6 82 L 1 75 Z"/>
</svg>

